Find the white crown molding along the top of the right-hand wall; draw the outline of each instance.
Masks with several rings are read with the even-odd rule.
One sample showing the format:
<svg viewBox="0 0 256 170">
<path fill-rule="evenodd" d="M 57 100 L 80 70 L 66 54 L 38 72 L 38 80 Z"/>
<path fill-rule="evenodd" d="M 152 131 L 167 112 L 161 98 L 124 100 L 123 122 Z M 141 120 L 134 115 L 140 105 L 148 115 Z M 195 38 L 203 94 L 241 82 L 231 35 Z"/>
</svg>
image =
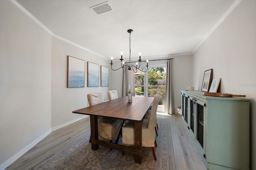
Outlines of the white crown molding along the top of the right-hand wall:
<svg viewBox="0 0 256 170">
<path fill-rule="evenodd" d="M 208 34 L 204 37 L 204 39 L 198 43 L 198 45 L 196 46 L 196 48 L 194 49 L 193 53 L 194 54 L 196 52 L 196 50 L 202 45 L 202 43 L 204 43 L 204 41 L 206 39 L 208 39 L 208 37 L 213 33 L 213 31 L 222 23 L 222 21 L 225 20 L 225 18 L 234 10 L 234 8 L 236 8 L 236 6 L 241 2 L 242 0 L 236 0 L 232 6 L 230 6 L 230 8 L 225 12 L 225 14 L 220 18 L 220 20 L 218 20 L 218 22 L 214 25 L 214 27 L 212 27 L 212 29 L 208 32 Z"/>
</svg>

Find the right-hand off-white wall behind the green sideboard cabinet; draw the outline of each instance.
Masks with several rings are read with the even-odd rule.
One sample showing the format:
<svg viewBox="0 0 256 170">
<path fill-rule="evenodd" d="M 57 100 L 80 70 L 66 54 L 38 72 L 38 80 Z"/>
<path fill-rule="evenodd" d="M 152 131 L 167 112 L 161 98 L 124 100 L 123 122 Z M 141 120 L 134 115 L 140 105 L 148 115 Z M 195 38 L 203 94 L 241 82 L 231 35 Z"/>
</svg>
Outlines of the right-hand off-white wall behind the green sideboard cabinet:
<svg viewBox="0 0 256 170">
<path fill-rule="evenodd" d="M 220 92 L 250 98 L 250 169 L 256 169 L 256 1 L 241 1 L 193 55 L 193 85 L 204 71 L 221 78 Z M 234 125 L 235 126 L 235 125 Z M 234 132 L 235 133 L 235 132 Z"/>
</svg>

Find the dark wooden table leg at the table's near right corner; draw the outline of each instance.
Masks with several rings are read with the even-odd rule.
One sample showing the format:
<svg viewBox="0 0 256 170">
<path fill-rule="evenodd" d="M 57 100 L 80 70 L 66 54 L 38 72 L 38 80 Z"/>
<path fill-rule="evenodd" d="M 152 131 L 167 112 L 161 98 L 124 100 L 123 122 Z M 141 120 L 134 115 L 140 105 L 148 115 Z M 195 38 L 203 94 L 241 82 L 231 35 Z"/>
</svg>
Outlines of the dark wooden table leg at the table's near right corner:
<svg viewBox="0 0 256 170">
<path fill-rule="evenodd" d="M 135 162 L 142 162 L 142 122 L 135 121 L 135 149 L 140 150 L 140 156 L 135 155 Z"/>
</svg>

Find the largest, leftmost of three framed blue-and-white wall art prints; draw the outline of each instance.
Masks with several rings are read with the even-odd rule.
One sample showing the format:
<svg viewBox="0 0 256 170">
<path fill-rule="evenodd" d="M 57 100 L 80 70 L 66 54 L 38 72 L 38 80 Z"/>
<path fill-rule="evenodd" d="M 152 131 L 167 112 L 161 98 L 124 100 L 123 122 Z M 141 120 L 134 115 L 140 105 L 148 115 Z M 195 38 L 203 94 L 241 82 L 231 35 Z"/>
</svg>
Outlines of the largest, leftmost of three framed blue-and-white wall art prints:
<svg viewBox="0 0 256 170">
<path fill-rule="evenodd" d="M 68 83 L 67 87 L 84 87 L 85 61 L 68 56 Z"/>
</svg>

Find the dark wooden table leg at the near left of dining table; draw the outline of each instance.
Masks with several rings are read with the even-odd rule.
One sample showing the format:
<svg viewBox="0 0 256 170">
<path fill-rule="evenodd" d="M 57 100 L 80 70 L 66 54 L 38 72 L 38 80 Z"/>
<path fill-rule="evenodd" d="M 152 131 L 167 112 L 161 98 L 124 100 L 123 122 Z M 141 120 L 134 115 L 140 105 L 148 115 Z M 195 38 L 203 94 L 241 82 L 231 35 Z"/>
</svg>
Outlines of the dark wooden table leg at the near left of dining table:
<svg viewBox="0 0 256 170">
<path fill-rule="evenodd" d="M 91 123 L 91 139 L 98 139 L 98 117 L 90 115 L 90 123 Z M 94 140 L 91 141 L 92 150 L 97 150 L 99 145 L 94 143 Z"/>
</svg>

